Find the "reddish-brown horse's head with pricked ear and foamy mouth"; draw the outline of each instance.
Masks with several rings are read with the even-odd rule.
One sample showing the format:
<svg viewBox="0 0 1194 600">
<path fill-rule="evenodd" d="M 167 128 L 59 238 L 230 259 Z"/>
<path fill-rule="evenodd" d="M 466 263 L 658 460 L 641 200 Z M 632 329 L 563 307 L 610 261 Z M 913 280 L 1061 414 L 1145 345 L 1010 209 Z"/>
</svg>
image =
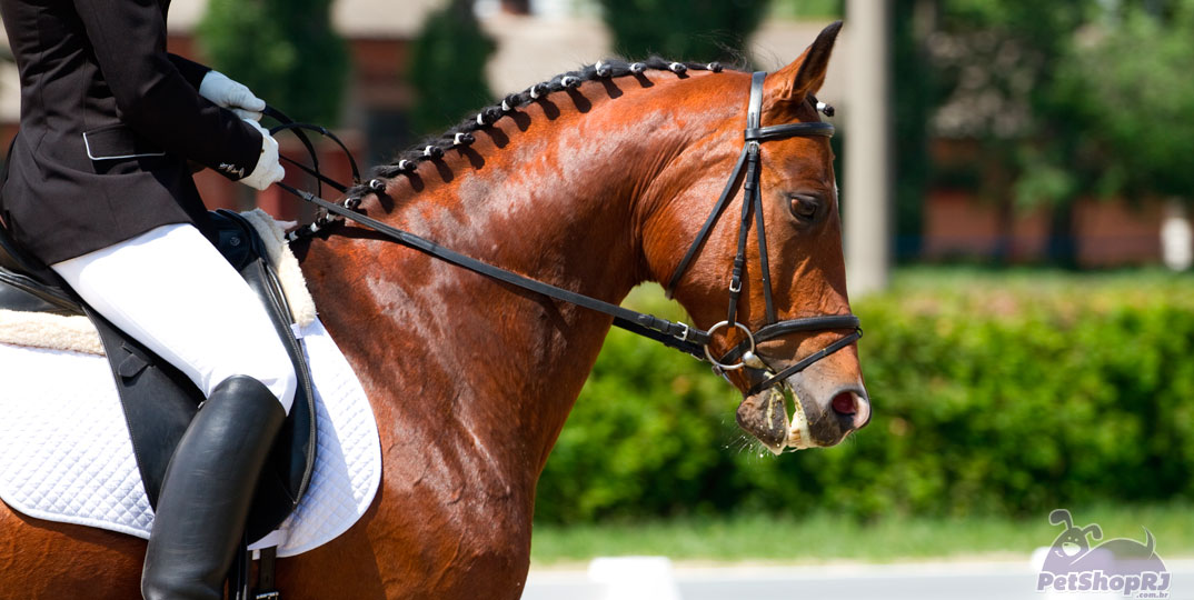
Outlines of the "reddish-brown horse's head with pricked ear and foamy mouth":
<svg viewBox="0 0 1194 600">
<path fill-rule="evenodd" d="M 830 25 L 799 58 L 767 75 L 762 87 L 761 126 L 820 120 L 813 94 L 825 80 L 839 29 L 839 23 Z M 684 262 L 684 249 L 697 239 L 707 219 L 709 199 L 728 190 L 727 173 L 740 173 L 733 165 L 744 143 L 747 82 L 736 76 L 710 80 L 710 85 L 720 86 L 713 92 L 714 98 L 724 99 L 721 101 L 733 110 L 726 111 L 720 123 L 707 125 L 706 135 L 690 143 L 684 154 L 673 157 L 671 166 L 663 169 L 653 190 L 657 197 L 648 199 L 653 210 L 642 230 L 652 277 L 671 282 L 669 292 L 698 327 L 709 328 L 726 320 L 731 271 L 741 247 L 740 225 L 749 222 L 744 225 L 749 233 L 740 299 L 737 310 L 731 308 L 731 315 L 736 315 L 743 327 L 719 328 L 710 344 L 712 355 L 724 355 L 743 344 L 747 330 L 757 332 L 775 321 L 849 315 L 850 303 L 833 153 L 824 134 L 796 134 L 756 142 L 762 219 L 741 212 L 743 203 L 749 200 L 741 184 L 732 181 L 731 185 L 739 186 L 736 197 L 725 206 L 691 264 Z M 752 142 L 747 140 L 746 143 Z M 694 165 L 701 167 L 694 168 Z M 694 172 L 697 177 L 693 177 Z M 739 218 L 740 215 L 745 218 Z M 761 231 L 765 235 L 765 246 L 757 242 Z M 764 280 L 768 271 L 770 284 Z M 768 301 L 774 309 L 768 309 Z M 776 388 L 758 389 L 769 372 L 782 372 L 850 332 L 850 328 L 795 330 L 761 341 L 755 353 L 765 363 L 765 370 L 725 372 L 726 378 L 744 392 L 738 423 L 773 452 L 784 447 L 831 446 L 866 426 L 870 420 L 870 404 L 854 344 L 782 381 L 782 386 L 790 390 L 795 400 L 790 419 Z"/>
</svg>

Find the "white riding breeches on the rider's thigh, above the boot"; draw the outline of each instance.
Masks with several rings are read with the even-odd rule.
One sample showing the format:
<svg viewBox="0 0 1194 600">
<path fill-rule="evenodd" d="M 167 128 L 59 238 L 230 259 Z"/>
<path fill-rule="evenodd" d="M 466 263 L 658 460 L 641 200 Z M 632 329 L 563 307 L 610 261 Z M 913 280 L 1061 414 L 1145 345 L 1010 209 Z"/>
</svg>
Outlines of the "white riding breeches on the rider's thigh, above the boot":
<svg viewBox="0 0 1194 600">
<path fill-rule="evenodd" d="M 247 375 L 290 412 L 297 378 L 269 314 L 193 225 L 162 225 L 50 268 L 204 397 L 228 377 Z"/>
</svg>

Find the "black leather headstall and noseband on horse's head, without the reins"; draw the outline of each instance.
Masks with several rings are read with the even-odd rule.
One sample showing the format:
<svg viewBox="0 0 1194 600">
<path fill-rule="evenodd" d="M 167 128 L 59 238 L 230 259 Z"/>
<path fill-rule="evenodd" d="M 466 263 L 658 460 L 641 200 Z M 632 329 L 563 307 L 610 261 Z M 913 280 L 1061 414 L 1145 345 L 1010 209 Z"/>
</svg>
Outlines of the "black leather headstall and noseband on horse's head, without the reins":
<svg viewBox="0 0 1194 600">
<path fill-rule="evenodd" d="M 693 262 L 697 252 L 700 252 L 701 247 L 704 246 L 706 240 L 708 240 L 709 233 L 713 230 L 714 223 L 718 222 L 718 218 L 721 217 L 721 214 L 725 211 L 726 204 L 728 204 L 730 199 L 734 196 L 734 192 L 738 188 L 738 178 L 740 178 L 745 171 L 746 178 L 741 186 L 741 221 L 738 225 L 738 254 L 734 256 L 733 272 L 730 277 L 730 310 L 726 320 L 710 327 L 708 334 L 712 336 L 718 329 L 728 327 L 740 329 L 746 335 L 746 340 L 724 354 L 720 359 L 713 357 L 713 353 L 709 351 L 709 345 L 706 344 L 704 355 L 709 363 L 713 363 L 714 370 L 718 370 L 722 375 L 725 375 L 726 371 L 734 371 L 738 369 L 763 371 L 769 375 L 769 377 L 767 377 L 763 382 L 751 386 L 751 389 L 746 391 L 747 395 L 758 394 L 759 391 L 769 389 L 774 385 L 782 384 L 786 378 L 804 371 L 813 363 L 854 344 L 862 338 L 858 317 L 854 315 L 825 315 L 805 318 L 789 318 L 784 321 L 777 321 L 775 317 L 775 302 L 773 301 L 771 295 L 771 271 L 768 266 L 767 259 L 767 233 L 763 224 L 763 194 L 759 187 L 759 173 L 762 172 L 762 165 L 759 163 L 759 144 L 768 140 L 784 140 L 788 137 L 832 137 L 833 125 L 830 123 L 813 122 L 771 125 L 767 128 L 761 126 L 764 79 L 767 79 L 767 73 L 764 72 L 755 72 L 751 76 L 750 104 L 746 109 L 746 130 L 744 135 L 743 151 L 738 155 L 738 163 L 734 165 L 734 169 L 730 173 L 730 180 L 726 181 L 726 187 L 721 191 L 721 198 L 719 198 L 718 203 L 713 206 L 713 211 L 704 221 L 704 225 L 701 227 L 701 231 L 696 234 L 696 240 L 693 241 L 693 245 L 689 246 L 684 258 L 681 259 L 679 266 L 677 266 L 676 271 L 672 272 L 672 277 L 667 282 L 666 287 L 667 295 L 671 296 L 672 290 L 679 283 L 681 277 L 684 276 L 689 264 Z M 746 266 L 746 237 L 750 231 L 751 212 L 755 214 L 755 224 L 758 230 L 759 270 L 763 274 L 763 298 L 767 305 L 767 324 L 757 332 L 751 332 L 749 327 L 739 323 L 737 318 L 738 302 L 743 289 L 743 270 Z M 774 371 L 755 353 L 756 344 L 773 340 L 788 333 L 830 329 L 853 329 L 853 332 L 820 351 L 805 357 L 796 364 L 780 371 L 778 373 L 774 373 Z"/>
</svg>

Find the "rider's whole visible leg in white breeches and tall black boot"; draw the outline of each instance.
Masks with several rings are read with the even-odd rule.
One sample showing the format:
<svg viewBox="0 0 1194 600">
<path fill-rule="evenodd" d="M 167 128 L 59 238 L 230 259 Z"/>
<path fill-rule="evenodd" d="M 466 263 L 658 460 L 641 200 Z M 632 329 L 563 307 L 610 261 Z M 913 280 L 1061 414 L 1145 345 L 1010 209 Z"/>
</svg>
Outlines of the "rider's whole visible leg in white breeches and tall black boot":
<svg viewBox="0 0 1194 600">
<path fill-rule="evenodd" d="M 149 600 L 219 600 L 297 381 L 265 309 L 191 225 L 51 265 L 104 317 L 179 367 L 207 402 L 166 470 L 146 552 Z"/>
</svg>

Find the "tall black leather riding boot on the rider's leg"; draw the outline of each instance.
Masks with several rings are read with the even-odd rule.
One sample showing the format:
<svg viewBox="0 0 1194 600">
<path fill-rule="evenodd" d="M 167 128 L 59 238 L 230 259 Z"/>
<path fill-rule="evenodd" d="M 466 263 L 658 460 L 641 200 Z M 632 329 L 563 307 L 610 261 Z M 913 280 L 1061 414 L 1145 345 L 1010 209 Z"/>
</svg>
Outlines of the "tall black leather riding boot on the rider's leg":
<svg viewBox="0 0 1194 600">
<path fill-rule="evenodd" d="M 220 600 L 285 412 L 246 376 L 224 379 L 178 443 L 158 499 L 141 594 Z"/>
</svg>

